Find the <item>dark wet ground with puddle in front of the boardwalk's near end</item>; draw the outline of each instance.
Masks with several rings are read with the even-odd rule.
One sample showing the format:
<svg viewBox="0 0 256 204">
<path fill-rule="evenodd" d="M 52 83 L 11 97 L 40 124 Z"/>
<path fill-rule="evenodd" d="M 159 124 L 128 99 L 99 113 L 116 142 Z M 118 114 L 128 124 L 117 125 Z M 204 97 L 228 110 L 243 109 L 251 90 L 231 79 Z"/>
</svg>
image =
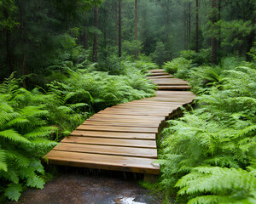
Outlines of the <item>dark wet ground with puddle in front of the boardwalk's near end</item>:
<svg viewBox="0 0 256 204">
<path fill-rule="evenodd" d="M 59 173 L 43 190 L 26 190 L 18 204 L 160 204 L 138 184 L 141 175 L 88 173 L 74 169 Z M 96 173 L 92 173 L 96 174 Z M 120 176 L 123 175 L 123 176 Z M 138 178 L 134 178 L 138 177 Z"/>
</svg>

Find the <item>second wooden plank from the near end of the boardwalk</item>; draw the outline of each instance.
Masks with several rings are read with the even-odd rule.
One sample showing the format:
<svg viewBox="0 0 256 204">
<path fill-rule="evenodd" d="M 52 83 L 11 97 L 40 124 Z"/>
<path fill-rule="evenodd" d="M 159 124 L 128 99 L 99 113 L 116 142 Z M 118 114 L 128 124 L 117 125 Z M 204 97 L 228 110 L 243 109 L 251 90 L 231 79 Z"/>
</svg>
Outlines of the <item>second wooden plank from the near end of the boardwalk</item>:
<svg viewBox="0 0 256 204">
<path fill-rule="evenodd" d="M 119 147 L 105 146 L 105 145 L 93 145 L 93 144 L 69 144 L 61 143 L 56 145 L 54 150 L 100 154 L 100 155 L 113 155 L 113 156 L 133 156 L 144 158 L 157 158 L 156 149 L 147 148 L 134 148 L 134 147 Z"/>
</svg>

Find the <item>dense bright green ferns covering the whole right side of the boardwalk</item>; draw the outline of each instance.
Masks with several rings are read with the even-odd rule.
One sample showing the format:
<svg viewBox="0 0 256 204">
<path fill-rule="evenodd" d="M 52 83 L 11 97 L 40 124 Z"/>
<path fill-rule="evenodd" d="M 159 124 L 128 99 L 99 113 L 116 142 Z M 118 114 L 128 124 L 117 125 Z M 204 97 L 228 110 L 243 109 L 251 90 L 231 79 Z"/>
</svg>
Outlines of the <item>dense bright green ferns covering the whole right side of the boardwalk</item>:
<svg viewBox="0 0 256 204">
<path fill-rule="evenodd" d="M 256 203 L 255 60 L 212 67 L 201 56 L 184 51 L 164 65 L 198 97 L 161 133 L 160 188 L 167 203 Z"/>
</svg>

